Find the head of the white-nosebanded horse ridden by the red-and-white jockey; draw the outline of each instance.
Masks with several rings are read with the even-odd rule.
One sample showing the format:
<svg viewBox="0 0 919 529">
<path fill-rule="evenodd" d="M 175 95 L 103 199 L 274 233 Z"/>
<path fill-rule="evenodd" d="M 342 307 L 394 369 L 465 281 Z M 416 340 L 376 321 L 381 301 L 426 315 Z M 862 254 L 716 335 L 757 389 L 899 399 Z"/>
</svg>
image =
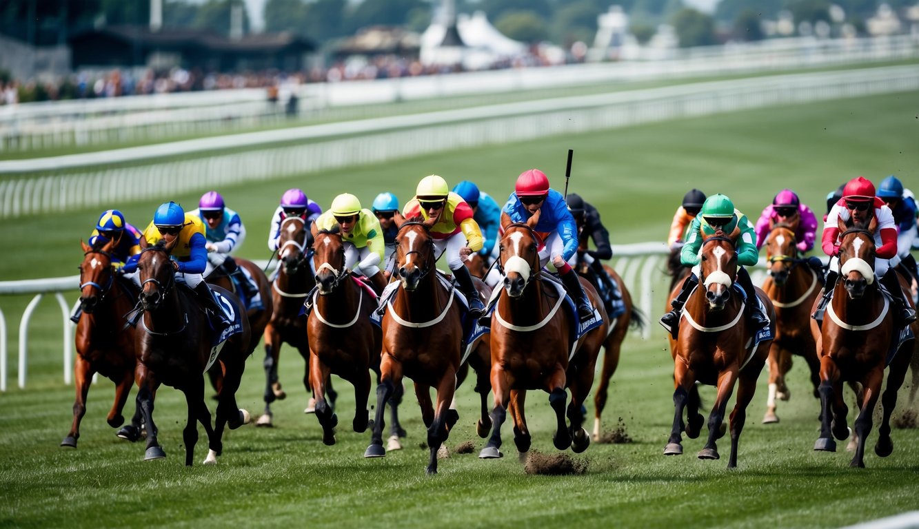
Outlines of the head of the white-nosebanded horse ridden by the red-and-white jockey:
<svg viewBox="0 0 919 529">
<path fill-rule="evenodd" d="M 840 278 L 845 279 L 849 298 L 861 298 L 868 286 L 874 284 L 874 232 L 878 229 L 878 219 L 872 215 L 867 224 L 852 222 L 852 226 L 839 219 L 838 228 L 842 233 L 839 236 Z"/>
</svg>

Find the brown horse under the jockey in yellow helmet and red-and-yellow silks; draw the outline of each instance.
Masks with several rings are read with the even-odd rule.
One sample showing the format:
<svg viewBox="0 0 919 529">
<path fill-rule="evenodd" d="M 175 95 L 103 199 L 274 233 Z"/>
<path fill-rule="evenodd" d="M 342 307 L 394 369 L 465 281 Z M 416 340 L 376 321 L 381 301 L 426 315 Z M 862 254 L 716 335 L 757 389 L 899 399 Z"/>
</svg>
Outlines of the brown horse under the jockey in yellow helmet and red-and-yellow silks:
<svg viewBox="0 0 919 529">
<path fill-rule="evenodd" d="M 414 392 L 427 427 L 428 474 L 437 474 L 437 450 L 459 419 L 449 409 L 459 371 L 462 314 L 452 288 L 438 278 L 430 228 L 437 217 L 410 219 L 396 236 L 399 287 L 383 314 L 383 348 L 377 410 L 365 457 L 385 456 L 382 447 L 383 410 L 403 377 L 414 381 Z M 430 389 L 437 390 L 432 405 Z"/>
</svg>

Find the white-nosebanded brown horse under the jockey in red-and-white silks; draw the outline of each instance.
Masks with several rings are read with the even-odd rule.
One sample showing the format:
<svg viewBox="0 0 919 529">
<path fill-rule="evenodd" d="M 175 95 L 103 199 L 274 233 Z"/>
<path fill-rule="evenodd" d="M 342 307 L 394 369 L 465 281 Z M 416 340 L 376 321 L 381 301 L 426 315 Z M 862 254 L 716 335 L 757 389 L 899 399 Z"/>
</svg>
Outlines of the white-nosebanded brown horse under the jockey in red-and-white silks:
<svg viewBox="0 0 919 529">
<path fill-rule="evenodd" d="M 883 417 L 874 451 L 881 457 L 890 456 L 893 452 L 891 413 L 915 345 L 909 341 L 903 343 L 892 359 L 888 357 L 895 329 L 891 301 L 880 291 L 874 276 L 874 232 L 877 225 L 878 219 L 873 216 L 867 226 L 855 224 L 850 227 L 839 220 L 840 275 L 817 343 L 820 351 L 821 431 L 814 450 L 835 452 L 833 437 L 839 440 L 848 437 L 845 418 L 848 408 L 843 399 L 843 382 L 857 382 L 862 387 L 861 410 L 855 421 L 857 445 L 850 467 L 865 467 L 865 440 L 871 432 L 872 414 L 878 403 L 884 367 L 888 362 L 887 388 L 881 397 Z M 893 270 L 888 271 L 888 274 L 893 273 Z M 905 281 L 901 280 L 901 284 L 905 286 Z M 893 296 L 898 294 L 893 293 Z M 816 323 L 812 325 L 816 327 Z M 913 333 L 919 332 L 916 323 L 912 324 L 912 329 Z M 894 340 L 897 337 L 892 336 Z"/>
</svg>

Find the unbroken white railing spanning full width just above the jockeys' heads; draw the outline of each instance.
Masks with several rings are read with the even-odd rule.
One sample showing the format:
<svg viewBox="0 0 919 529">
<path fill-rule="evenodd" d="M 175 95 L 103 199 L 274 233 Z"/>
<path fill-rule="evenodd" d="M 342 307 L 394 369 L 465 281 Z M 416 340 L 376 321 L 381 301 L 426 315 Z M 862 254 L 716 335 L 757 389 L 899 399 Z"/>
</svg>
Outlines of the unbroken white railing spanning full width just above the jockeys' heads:
<svg viewBox="0 0 919 529">
<path fill-rule="evenodd" d="M 183 193 L 427 152 L 917 89 L 914 65 L 798 73 L 6 161 L 0 162 L 0 177 L 10 176 L 0 182 L 0 218 L 158 197 L 164 188 Z M 119 166 L 126 163 L 144 164 Z M 57 174 L 62 170 L 69 174 Z"/>
</svg>

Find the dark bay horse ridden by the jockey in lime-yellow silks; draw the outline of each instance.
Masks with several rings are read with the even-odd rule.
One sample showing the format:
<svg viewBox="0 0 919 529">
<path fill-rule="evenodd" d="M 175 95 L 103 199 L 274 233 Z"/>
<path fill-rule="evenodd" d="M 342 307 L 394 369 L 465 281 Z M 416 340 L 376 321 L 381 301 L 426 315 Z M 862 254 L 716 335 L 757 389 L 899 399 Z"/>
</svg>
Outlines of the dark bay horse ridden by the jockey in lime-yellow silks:
<svg viewBox="0 0 919 529">
<path fill-rule="evenodd" d="M 368 427 L 367 402 L 370 369 L 380 370 L 382 332 L 370 321 L 377 298 L 345 269 L 345 245 L 335 231 L 317 230 L 312 224 L 313 264 L 316 269 L 315 304 L 307 321 L 310 343 L 310 382 L 316 399 L 316 418 L 323 426 L 323 443 L 335 445 L 338 417 L 325 400 L 330 374 L 354 386 L 355 415 L 352 427 Z M 395 402 L 390 403 L 391 406 Z"/>
</svg>

